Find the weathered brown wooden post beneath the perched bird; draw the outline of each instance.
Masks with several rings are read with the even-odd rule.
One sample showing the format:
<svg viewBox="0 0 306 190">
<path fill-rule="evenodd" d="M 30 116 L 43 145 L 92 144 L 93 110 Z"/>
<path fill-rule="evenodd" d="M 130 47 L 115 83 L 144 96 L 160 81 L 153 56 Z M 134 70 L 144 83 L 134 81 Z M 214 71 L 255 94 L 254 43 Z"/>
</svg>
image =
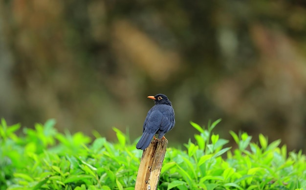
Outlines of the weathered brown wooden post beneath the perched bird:
<svg viewBox="0 0 306 190">
<path fill-rule="evenodd" d="M 154 139 L 141 157 L 135 190 L 157 190 L 161 166 L 164 161 L 168 140 Z"/>
</svg>

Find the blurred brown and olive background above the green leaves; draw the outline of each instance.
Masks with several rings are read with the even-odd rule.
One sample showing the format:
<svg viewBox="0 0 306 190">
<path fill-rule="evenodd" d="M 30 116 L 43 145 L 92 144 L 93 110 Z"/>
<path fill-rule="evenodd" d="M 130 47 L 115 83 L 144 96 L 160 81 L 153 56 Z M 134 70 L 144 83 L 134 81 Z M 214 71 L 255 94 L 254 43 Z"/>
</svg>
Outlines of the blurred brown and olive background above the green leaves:
<svg viewBox="0 0 306 190">
<path fill-rule="evenodd" d="M 304 0 L 1 0 L 0 117 L 59 131 L 112 127 L 131 140 L 166 94 L 182 147 L 189 121 L 232 139 L 282 139 L 306 150 Z"/>
</svg>

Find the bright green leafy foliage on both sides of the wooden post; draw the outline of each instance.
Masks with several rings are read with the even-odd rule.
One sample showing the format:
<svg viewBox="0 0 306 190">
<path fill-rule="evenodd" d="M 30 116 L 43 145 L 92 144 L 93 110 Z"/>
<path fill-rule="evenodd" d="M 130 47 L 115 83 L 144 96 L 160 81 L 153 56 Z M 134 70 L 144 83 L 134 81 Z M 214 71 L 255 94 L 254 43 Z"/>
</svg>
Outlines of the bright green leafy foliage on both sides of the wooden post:
<svg viewBox="0 0 306 190">
<path fill-rule="evenodd" d="M 237 149 L 212 130 L 192 123 L 199 134 L 185 150 L 168 148 L 161 169 L 159 190 L 302 190 L 306 187 L 306 156 L 268 143 L 259 144 L 247 133 L 230 131 Z M 0 190 L 133 190 L 142 151 L 128 135 L 113 128 L 118 143 L 94 132 L 95 139 L 81 132 L 59 133 L 55 121 L 35 129 L 0 125 Z"/>
</svg>

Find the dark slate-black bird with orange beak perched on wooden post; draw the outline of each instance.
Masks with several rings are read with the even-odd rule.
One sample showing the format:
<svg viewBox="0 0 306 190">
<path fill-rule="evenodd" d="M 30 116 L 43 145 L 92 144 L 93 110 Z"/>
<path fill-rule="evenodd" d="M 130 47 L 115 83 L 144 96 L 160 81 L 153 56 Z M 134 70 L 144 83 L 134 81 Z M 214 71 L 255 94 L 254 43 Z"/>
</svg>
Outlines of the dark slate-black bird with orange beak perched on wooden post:
<svg viewBox="0 0 306 190">
<path fill-rule="evenodd" d="M 156 94 L 148 98 L 153 99 L 155 105 L 148 111 L 143 124 L 143 134 L 136 145 L 137 149 L 142 150 L 148 148 L 155 134 L 158 134 L 158 139 L 165 138 L 165 133 L 175 126 L 175 113 L 168 97 Z"/>
</svg>

